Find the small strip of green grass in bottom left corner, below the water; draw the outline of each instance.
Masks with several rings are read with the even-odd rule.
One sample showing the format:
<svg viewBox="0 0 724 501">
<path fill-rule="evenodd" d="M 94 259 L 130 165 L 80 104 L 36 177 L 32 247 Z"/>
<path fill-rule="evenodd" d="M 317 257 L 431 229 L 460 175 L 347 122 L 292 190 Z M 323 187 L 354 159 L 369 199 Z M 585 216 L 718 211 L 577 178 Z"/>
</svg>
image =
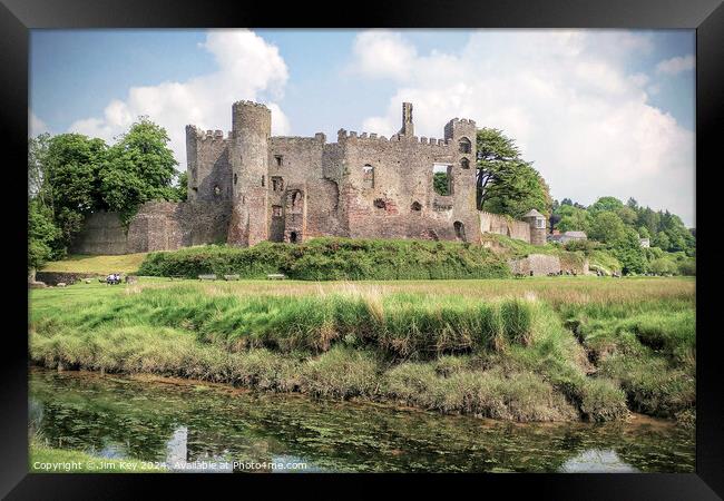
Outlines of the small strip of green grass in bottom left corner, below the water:
<svg viewBox="0 0 724 501">
<path fill-rule="evenodd" d="M 107 459 L 69 449 L 30 442 L 28 470 L 31 473 L 166 473 L 138 460 Z"/>
</svg>

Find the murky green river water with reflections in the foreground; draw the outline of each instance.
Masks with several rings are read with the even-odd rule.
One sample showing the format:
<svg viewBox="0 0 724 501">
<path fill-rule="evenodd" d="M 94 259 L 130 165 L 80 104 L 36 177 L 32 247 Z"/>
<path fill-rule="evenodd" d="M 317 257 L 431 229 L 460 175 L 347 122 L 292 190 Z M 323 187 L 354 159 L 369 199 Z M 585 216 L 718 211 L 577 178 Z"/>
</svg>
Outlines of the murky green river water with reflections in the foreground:
<svg viewBox="0 0 724 501">
<path fill-rule="evenodd" d="M 666 421 L 520 424 L 226 385 L 30 372 L 30 432 L 52 446 L 179 471 L 692 472 Z"/>
</svg>

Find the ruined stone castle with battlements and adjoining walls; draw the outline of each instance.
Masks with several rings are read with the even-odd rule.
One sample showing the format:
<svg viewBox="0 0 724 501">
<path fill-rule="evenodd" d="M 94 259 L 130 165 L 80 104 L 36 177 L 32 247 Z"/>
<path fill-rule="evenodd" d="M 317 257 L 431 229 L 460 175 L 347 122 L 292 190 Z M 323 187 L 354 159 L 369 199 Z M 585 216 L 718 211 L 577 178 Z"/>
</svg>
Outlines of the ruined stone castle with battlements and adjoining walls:
<svg viewBox="0 0 724 501">
<path fill-rule="evenodd" d="M 454 118 L 443 138 L 417 137 L 412 105 L 390 138 L 341 129 L 336 143 L 272 136 L 271 110 L 238 101 L 232 130 L 186 127 L 188 197 L 147 203 L 127 232 L 114 214 L 96 214 L 75 252 L 125 254 L 225 242 L 301 243 L 319 236 L 478 243 L 501 233 L 544 244 L 545 217 L 524 222 L 476 207 L 476 122 Z M 436 173 L 444 189 L 434 187 Z M 440 193 L 439 193 L 440 191 Z"/>
</svg>

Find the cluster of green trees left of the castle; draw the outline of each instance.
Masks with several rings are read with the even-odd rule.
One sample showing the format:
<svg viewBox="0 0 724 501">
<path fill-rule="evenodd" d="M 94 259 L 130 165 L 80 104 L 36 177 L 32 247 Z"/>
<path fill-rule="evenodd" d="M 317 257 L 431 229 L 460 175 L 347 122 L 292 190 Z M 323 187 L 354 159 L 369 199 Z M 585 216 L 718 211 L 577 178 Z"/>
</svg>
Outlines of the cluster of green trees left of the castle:
<svg viewBox="0 0 724 501">
<path fill-rule="evenodd" d="M 128 223 L 149 200 L 185 198 L 164 128 L 139 117 L 110 147 L 80 134 L 28 141 L 28 267 L 65 255 L 85 218 L 115 210 Z"/>
</svg>

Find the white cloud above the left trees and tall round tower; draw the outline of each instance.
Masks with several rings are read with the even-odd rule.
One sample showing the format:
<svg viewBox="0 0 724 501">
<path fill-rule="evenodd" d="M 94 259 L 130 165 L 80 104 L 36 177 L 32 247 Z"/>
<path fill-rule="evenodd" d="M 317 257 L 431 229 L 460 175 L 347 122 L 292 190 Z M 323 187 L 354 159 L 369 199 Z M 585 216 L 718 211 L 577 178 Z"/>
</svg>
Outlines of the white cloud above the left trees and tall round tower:
<svg viewBox="0 0 724 501">
<path fill-rule="evenodd" d="M 69 130 L 110 141 L 147 115 L 168 132 L 180 169 L 186 168 L 185 126 L 229 130 L 232 104 L 237 100 L 265 101 L 272 109 L 272 134 L 288 134 L 288 119 L 273 101 L 282 97 L 288 78 L 276 47 L 245 29 L 209 30 L 199 47 L 214 56 L 215 72 L 183 82 L 131 87 L 124 100 L 106 106 L 102 117 L 77 120 Z"/>
</svg>

